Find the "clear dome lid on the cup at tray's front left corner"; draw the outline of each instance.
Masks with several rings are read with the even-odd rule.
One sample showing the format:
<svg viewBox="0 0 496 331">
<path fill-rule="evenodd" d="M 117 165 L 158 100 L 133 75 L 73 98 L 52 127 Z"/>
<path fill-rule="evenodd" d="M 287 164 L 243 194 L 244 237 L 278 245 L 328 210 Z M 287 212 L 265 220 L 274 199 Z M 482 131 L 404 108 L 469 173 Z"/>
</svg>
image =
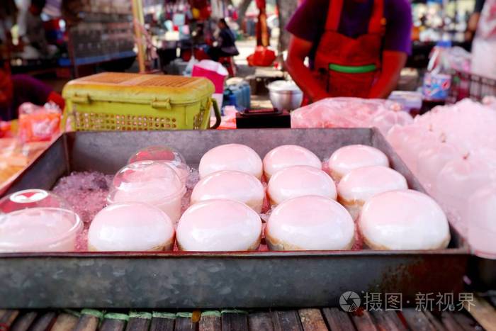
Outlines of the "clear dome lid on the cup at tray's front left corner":
<svg viewBox="0 0 496 331">
<path fill-rule="evenodd" d="M 72 210 L 64 198 L 42 189 L 28 189 L 12 193 L 0 199 L 0 213 L 12 213 L 27 208 L 62 208 Z"/>
</svg>

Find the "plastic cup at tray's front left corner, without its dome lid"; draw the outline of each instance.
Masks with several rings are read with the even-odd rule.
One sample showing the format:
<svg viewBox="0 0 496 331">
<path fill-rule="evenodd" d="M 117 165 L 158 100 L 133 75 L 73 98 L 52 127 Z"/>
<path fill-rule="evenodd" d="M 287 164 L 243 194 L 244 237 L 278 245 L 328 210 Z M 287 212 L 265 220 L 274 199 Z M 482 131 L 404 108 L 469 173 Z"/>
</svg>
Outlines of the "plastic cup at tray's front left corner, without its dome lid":
<svg viewBox="0 0 496 331">
<path fill-rule="evenodd" d="M 83 223 L 62 208 L 28 208 L 0 215 L 0 252 L 74 252 Z"/>
</svg>

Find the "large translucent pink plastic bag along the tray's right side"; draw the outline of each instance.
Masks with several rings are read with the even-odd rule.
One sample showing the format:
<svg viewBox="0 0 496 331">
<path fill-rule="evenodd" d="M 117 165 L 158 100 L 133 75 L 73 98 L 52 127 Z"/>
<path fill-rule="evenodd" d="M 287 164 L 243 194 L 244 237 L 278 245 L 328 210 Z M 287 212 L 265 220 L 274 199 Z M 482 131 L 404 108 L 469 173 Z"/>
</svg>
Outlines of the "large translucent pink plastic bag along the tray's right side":
<svg viewBox="0 0 496 331">
<path fill-rule="evenodd" d="M 474 230 L 472 216 L 463 217 L 468 197 L 496 180 L 495 127 L 496 111 L 464 99 L 438 106 L 388 134 L 390 145 L 462 233 L 467 227 Z"/>
</svg>

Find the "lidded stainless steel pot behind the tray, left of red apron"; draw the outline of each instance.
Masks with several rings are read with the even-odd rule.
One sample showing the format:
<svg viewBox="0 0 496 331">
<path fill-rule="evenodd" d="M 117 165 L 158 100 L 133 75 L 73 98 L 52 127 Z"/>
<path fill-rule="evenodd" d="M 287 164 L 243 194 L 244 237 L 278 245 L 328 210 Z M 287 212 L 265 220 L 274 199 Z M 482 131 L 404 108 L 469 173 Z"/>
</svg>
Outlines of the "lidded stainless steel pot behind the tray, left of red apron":
<svg viewBox="0 0 496 331">
<path fill-rule="evenodd" d="M 280 111 L 293 111 L 301 106 L 303 92 L 294 82 L 276 81 L 267 86 L 272 106 Z"/>
</svg>

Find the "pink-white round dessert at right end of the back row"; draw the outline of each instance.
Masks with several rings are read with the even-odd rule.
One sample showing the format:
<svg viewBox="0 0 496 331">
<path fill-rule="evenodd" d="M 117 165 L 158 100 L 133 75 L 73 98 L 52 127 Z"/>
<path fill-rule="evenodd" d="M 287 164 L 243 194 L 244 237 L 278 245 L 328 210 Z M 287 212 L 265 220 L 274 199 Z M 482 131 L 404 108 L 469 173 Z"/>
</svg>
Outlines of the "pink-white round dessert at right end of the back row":
<svg viewBox="0 0 496 331">
<path fill-rule="evenodd" d="M 332 153 L 328 162 L 329 172 L 335 181 L 340 181 L 351 170 L 361 167 L 389 167 L 388 157 L 375 147 L 349 145 Z"/>
</svg>

